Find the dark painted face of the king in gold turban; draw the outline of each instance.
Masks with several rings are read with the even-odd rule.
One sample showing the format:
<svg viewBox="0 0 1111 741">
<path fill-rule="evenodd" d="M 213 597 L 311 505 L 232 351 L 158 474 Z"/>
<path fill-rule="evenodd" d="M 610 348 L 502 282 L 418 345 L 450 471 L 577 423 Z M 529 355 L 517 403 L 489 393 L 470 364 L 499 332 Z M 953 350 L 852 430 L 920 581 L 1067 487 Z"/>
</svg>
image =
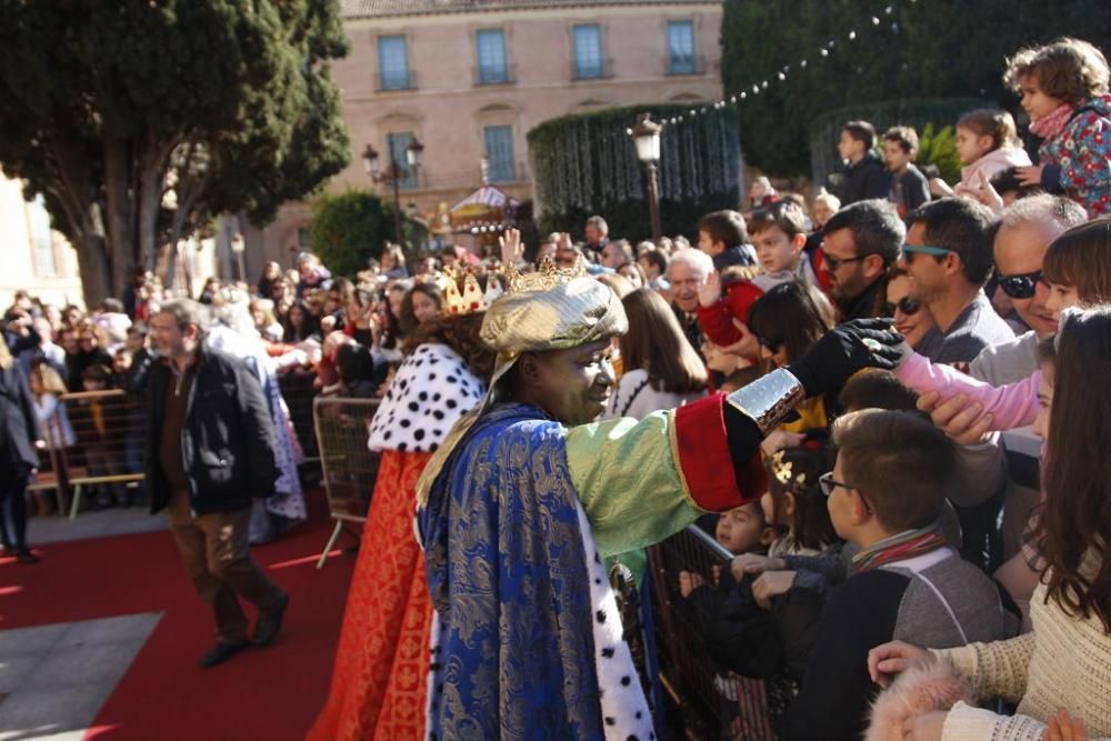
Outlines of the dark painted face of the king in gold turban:
<svg viewBox="0 0 1111 741">
<path fill-rule="evenodd" d="M 522 357 L 520 377 L 530 401 L 563 424 L 593 421 L 615 381 L 610 340 Z"/>
</svg>

